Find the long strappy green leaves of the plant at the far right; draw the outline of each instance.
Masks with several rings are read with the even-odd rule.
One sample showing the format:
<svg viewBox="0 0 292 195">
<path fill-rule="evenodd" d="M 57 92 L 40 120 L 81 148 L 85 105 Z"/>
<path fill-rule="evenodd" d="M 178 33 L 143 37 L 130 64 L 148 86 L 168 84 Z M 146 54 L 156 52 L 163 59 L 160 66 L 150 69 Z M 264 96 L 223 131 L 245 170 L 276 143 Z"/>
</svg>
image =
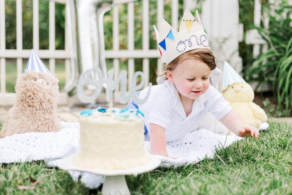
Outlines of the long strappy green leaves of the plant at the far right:
<svg viewBox="0 0 292 195">
<path fill-rule="evenodd" d="M 263 13 L 269 18 L 269 28 L 252 27 L 267 42 L 268 49 L 247 70 L 246 79 L 271 84 L 278 109 L 284 105 L 289 110 L 292 103 L 292 5 L 286 1 L 282 1 L 276 8 L 269 4 L 263 6 Z"/>
</svg>

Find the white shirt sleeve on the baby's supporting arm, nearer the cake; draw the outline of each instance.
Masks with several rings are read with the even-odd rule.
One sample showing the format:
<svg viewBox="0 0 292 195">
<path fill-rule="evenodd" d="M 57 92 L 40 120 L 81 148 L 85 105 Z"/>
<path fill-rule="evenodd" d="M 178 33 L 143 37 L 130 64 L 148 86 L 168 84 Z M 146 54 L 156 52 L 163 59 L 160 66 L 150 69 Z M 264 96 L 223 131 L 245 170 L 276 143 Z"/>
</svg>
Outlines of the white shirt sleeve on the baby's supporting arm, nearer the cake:
<svg viewBox="0 0 292 195">
<path fill-rule="evenodd" d="M 173 103 L 165 94 L 157 94 L 152 103 L 148 122 L 167 128 L 170 123 Z"/>
</svg>

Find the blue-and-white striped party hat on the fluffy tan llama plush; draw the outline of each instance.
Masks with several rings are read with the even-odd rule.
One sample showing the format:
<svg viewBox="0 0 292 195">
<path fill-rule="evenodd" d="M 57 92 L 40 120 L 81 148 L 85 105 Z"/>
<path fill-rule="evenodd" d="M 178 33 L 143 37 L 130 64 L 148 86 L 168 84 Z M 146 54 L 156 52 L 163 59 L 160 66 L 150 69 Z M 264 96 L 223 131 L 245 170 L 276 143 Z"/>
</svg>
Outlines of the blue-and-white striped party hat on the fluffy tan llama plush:
<svg viewBox="0 0 292 195">
<path fill-rule="evenodd" d="M 48 68 L 44 65 L 39 56 L 36 55 L 33 49 L 30 52 L 25 70 L 34 70 L 36 72 L 44 72 L 49 73 L 51 75 Z"/>
</svg>

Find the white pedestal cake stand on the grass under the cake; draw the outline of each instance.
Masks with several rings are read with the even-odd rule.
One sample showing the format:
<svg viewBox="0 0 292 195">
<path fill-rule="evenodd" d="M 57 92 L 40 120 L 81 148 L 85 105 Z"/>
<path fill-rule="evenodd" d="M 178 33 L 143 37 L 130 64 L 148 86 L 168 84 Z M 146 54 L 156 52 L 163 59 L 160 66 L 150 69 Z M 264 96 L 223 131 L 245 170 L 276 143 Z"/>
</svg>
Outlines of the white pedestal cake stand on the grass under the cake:
<svg viewBox="0 0 292 195">
<path fill-rule="evenodd" d="M 159 159 L 151 156 L 151 160 L 148 163 L 128 169 L 118 170 L 89 169 L 74 165 L 72 161 L 73 157 L 74 155 L 71 155 L 56 161 L 57 166 L 63 170 L 77 170 L 82 172 L 93 173 L 96 175 L 105 175 L 105 182 L 103 183 L 101 191 L 103 195 L 111 194 L 130 195 L 130 191 L 126 184 L 125 175 L 140 174 L 152 171 L 155 168 L 157 168 L 161 163 Z"/>
</svg>

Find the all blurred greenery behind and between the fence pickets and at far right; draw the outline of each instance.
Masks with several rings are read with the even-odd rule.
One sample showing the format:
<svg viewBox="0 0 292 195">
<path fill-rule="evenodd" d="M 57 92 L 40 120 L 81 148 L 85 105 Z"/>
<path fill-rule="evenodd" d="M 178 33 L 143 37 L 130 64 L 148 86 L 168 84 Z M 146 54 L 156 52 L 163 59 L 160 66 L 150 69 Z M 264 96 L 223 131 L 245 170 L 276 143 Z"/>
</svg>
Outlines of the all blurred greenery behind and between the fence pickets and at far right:
<svg viewBox="0 0 292 195">
<path fill-rule="evenodd" d="M 5 0 L 6 11 L 6 49 L 16 49 L 16 0 Z M 198 5 L 204 0 L 197 0 Z M 270 85 L 272 92 L 261 91 L 260 96 L 264 100 L 261 106 L 268 107 L 271 115 L 288 116 L 291 115 L 292 105 L 292 29 L 291 12 L 292 6 L 286 0 L 280 1 L 274 7 L 274 14 L 270 14 L 273 4 L 269 0 L 261 0 L 262 13 L 267 13 L 270 23 L 269 28 L 265 29 L 263 22 L 260 27 L 253 25 L 254 0 L 239 0 L 239 23 L 244 24 L 244 39 L 239 43 L 239 55 L 243 60 L 241 75 L 247 82 L 257 81 L 261 90 L 263 84 Z M 157 1 L 149 0 L 150 21 L 150 49 L 156 49 L 156 37 L 153 25 L 157 25 Z M 48 1 L 39 0 L 39 47 L 48 49 Z M 142 49 L 142 0 L 134 2 L 135 7 L 135 49 Z M 23 18 L 23 49 L 32 48 L 32 0 L 22 0 Z M 55 4 L 55 31 L 56 49 L 65 48 L 65 6 Z M 201 9 L 198 7 L 199 12 Z M 183 14 L 183 0 L 179 0 L 179 22 Z M 190 10 L 193 14 L 195 9 Z M 263 14 L 262 14 L 263 15 Z M 171 21 L 171 0 L 164 1 L 164 18 Z M 263 18 L 264 19 L 264 18 Z M 179 24 L 178 24 L 179 25 Z M 245 43 L 246 30 L 256 29 L 266 40 L 268 51 L 253 56 L 253 46 Z M 119 48 L 127 49 L 127 5 L 119 5 Z M 112 49 L 112 11 L 108 11 L 104 16 L 105 49 Z M 48 61 L 43 60 L 46 65 Z M 25 69 L 26 59 L 23 60 L 23 70 Z M 142 58 L 135 59 L 135 71 L 142 70 Z M 140 64 L 140 65 L 139 65 Z M 112 59 L 107 59 L 107 67 L 112 68 Z M 65 65 L 63 60 L 56 60 L 57 77 L 60 80 L 60 88 L 65 85 Z M 127 70 L 127 59 L 120 59 L 120 69 Z M 150 59 L 150 82 L 156 83 L 155 70 L 157 69 L 157 59 Z M 7 59 L 6 61 L 6 88 L 8 92 L 14 91 L 16 80 L 16 60 Z M 268 96 L 268 99 L 265 97 Z"/>
</svg>

